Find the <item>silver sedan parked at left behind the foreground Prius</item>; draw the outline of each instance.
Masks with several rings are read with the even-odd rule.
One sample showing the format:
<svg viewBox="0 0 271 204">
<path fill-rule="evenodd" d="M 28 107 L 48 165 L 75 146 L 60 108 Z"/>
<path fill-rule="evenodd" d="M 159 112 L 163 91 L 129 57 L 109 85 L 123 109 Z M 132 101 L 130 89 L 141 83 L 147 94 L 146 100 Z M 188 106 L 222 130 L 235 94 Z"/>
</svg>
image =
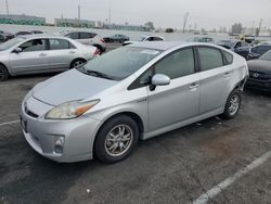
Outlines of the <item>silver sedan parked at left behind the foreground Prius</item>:
<svg viewBox="0 0 271 204">
<path fill-rule="evenodd" d="M 17 37 L 0 44 L 0 81 L 15 75 L 67 71 L 91 60 L 95 51 L 64 37 Z"/>
</svg>

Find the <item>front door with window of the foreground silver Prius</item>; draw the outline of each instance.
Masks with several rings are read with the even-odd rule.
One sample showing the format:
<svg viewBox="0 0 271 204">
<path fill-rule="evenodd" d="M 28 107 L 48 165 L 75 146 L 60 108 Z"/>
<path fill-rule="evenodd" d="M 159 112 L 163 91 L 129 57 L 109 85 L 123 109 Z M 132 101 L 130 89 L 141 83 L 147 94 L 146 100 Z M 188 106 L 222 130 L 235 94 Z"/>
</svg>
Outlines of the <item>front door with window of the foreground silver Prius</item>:
<svg viewBox="0 0 271 204">
<path fill-rule="evenodd" d="M 193 48 L 169 54 L 151 71 L 152 74 L 169 76 L 171 81 L 154 90 L 147 89 L 149 131 L 188 120 L 198 114 L 199 73 L 195 73 Z"/>
</svg>

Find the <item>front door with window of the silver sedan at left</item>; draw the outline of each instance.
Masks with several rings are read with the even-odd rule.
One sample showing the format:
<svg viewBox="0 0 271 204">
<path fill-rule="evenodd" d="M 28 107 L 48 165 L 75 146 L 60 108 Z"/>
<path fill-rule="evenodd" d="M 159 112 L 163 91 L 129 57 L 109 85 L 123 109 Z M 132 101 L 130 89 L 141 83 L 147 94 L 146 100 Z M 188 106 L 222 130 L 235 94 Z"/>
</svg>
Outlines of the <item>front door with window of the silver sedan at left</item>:
<svg viewBox="0 0 271 204">
<path fill-rule="evenodd" d="M 40 73 L 48 68 L 48 39 L 31 39 L 18 48 L 22 52 L 10 53 L 10 65 L 14 73 Z"/>
</svg>

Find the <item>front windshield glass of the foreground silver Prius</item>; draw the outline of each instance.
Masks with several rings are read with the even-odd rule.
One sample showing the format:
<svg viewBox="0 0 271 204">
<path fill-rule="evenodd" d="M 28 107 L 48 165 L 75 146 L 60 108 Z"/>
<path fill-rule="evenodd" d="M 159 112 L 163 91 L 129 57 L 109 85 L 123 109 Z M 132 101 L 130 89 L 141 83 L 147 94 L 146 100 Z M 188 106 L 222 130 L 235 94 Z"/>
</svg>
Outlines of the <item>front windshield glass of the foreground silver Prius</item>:
<svg viewBox="0 0 271 204">
<path fill-rule="evenodd" d="M 124 47 L 89 61 L 86 72 L 99 72 L 115 80 L 121 80 L 160 53 L 147 48 Z M 100 75 L 101 76 L 101 75 Z"/>
</svg>

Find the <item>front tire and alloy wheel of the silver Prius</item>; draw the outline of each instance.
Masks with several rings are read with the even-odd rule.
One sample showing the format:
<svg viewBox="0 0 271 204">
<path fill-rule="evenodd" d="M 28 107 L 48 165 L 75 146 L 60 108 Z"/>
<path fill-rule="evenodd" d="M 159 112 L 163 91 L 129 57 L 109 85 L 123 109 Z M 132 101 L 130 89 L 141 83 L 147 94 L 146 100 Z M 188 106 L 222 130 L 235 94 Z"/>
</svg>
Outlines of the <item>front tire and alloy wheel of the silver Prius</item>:
<svg viewBox="0 0 271 204">
<path fill-rule="evenodd" d="M 96 135 L 94 155 L 103 163 L 116 163 L 129 156 L 139 140 L 137 123 L 125 115 L 106 122 Z"/>
</svg>

